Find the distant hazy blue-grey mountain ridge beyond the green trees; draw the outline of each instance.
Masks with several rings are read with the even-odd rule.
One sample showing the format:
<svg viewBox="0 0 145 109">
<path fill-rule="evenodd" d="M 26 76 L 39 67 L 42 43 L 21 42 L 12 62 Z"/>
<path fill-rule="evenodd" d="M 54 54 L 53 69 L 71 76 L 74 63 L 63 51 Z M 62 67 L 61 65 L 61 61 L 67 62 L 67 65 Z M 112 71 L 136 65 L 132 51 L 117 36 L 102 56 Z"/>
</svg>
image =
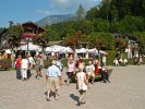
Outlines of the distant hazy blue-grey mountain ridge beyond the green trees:
<svg viewBox="0 0 145 109">
<path fill-rule="evenodd" d="M 74 19 L 75 14 L 50 15 L 39 20 L 38 22 L 36 22 L 36 24 L 40 27 L 45 27 L 46 25 L 51 25 L 63 21 L 72 21 Z"/>
</svg>

